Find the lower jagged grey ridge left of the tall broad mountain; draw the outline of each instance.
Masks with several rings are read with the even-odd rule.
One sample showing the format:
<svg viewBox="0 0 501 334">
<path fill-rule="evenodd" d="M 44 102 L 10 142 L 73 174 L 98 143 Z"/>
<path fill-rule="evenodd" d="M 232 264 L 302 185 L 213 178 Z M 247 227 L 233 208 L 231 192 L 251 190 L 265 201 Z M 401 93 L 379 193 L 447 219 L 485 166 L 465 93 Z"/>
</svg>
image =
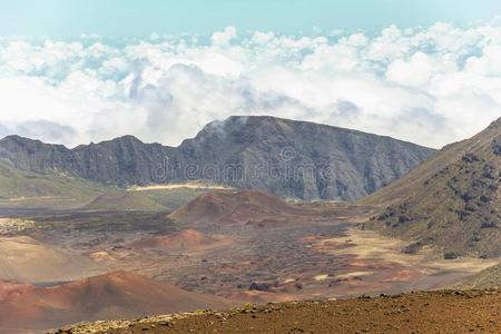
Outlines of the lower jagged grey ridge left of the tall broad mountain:
<svg viewBox="0 0 501 334">
<path fill-rule="evenodd" d="M 17 169 L 59 173 L 116 186 L 154 183 L 153 170 L 163 166 L 170 151 L 169 147 L 144 144 L 132 136 L 81 145 L 75 149 L 18 136 L 0 140 L 0 160 Z"/>
</svg>

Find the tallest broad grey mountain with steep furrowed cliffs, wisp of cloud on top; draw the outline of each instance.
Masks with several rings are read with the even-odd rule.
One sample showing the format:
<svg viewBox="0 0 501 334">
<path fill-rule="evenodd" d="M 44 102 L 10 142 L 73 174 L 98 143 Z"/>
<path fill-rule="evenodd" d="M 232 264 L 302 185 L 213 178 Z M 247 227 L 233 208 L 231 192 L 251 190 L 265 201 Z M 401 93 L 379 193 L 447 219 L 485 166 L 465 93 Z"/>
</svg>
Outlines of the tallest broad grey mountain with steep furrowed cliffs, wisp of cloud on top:
<svg viewBox="0 0 501 334">
<path fill-rule="evenodd" d="M 217 181 L 279 196 L 355 200 L 434 151 L 410 143 L 304 121 L 230 117 L 179 147 L 179 166 L 212 167 Z"/>
</svg>

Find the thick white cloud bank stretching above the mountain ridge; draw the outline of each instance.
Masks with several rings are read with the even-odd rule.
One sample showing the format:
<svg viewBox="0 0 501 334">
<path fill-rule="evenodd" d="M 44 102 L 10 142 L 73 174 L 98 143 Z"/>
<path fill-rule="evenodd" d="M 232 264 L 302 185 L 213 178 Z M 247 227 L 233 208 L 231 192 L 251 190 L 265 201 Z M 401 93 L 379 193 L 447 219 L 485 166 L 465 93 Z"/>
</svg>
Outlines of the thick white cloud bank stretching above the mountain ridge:
<svg viewBox="0 0 501 334">
<path fill-rule="evenodd" d="M 441 147 L 501 116 L 500 28 L 2 38 L 0 136 L 178 145 L 215 119 L 272 115 Z"/>
</svg>

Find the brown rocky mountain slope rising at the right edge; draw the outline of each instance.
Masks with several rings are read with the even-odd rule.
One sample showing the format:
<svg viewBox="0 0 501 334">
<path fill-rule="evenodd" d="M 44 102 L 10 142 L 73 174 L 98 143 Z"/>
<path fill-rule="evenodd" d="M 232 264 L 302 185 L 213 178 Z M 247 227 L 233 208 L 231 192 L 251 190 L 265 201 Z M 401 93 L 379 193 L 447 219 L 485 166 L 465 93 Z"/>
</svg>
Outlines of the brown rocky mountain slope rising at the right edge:
<svg viewBox="0 0 501 334">
<path fill-rule="evenodd" d="M 446 258 L 501 256 L 501 119 L 469 140 L 445 147 L 404 178 L 369 197 L 391 203 L 365 224 L 432 246 Z"/>
</svg>

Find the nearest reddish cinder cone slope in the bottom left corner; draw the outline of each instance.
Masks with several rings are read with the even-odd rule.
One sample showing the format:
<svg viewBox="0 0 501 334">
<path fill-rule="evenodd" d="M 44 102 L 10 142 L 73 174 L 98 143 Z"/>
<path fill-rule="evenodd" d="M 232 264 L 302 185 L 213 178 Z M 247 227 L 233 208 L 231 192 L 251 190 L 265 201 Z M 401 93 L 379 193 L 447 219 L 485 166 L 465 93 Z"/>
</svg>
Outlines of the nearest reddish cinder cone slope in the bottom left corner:
<svg viewBox="0 0 501 334">
<path fill-rule="evenodd" d="M 89 320 L 115 320 L 229 305 L 214 296 L 186 292 L 126 272 L 50 287 L 2 284 L 0 333 L 32 333 L 35 330 Z"/>
</svg>

